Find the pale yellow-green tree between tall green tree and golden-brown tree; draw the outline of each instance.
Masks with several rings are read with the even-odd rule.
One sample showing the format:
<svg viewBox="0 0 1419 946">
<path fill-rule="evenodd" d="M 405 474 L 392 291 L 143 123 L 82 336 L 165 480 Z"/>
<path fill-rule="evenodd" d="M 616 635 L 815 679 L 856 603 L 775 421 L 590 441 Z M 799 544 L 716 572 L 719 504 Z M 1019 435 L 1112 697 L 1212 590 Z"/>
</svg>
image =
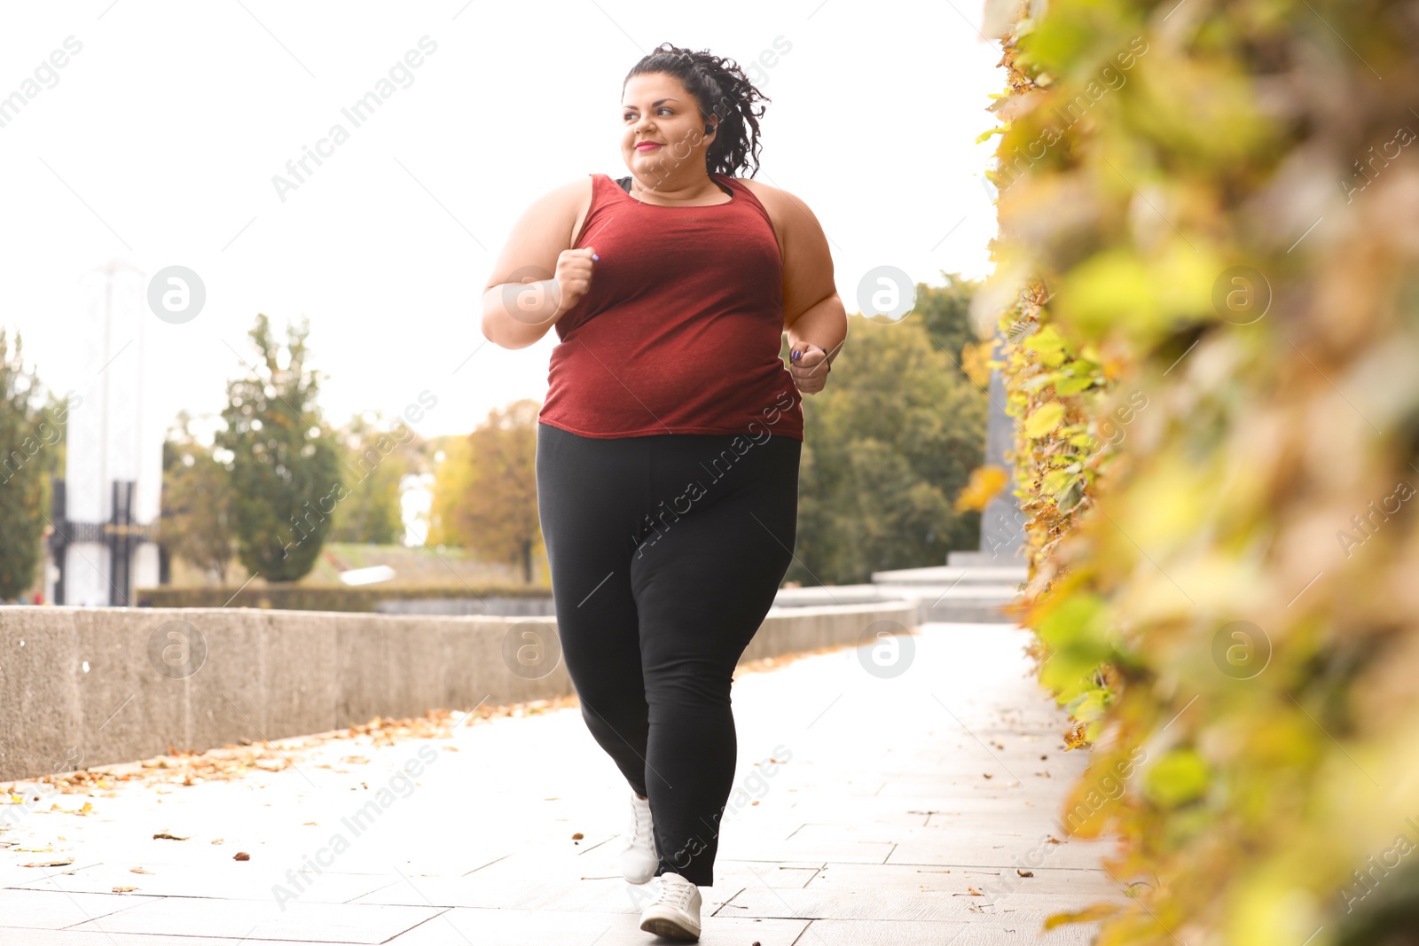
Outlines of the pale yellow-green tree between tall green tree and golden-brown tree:
<svg viewBox="0 0 1419 946">
<path fill-rule="evenodd" d="M 413 472 L 419 434 L 379 413 L 355 416 L 339 433 L 349 496 L 335 509 L 331 542 L 392 545 L 404 536 L 399 485 Z"/>
</svg>

